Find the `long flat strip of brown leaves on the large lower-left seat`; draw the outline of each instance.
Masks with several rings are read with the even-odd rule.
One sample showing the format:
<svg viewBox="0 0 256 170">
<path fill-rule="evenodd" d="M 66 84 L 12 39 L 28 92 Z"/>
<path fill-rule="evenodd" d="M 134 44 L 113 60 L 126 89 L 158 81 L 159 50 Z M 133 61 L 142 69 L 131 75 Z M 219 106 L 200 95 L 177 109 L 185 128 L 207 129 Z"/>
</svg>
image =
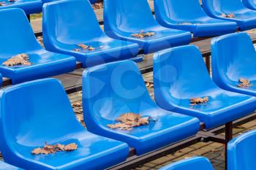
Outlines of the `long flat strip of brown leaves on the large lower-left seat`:
<svg viewBox="0 0 256 170">
<path fill-rule="evenodd" d="M 43 155 L 48 155 L 50 153 L 56 153 L 56 152 L 60 152 L 60 151 L 72 151 L 72 150 L 77 150 L 78 149 L 78 145 L 75 143 L 71 143 L 71 144 L 47 144 L 45 143 L 44 147 L 37 147 L 36 149 L 31 151 L 31 154 L 33 155 L 39 155 L 39 154 L 43 154 Z"/>
</svg>

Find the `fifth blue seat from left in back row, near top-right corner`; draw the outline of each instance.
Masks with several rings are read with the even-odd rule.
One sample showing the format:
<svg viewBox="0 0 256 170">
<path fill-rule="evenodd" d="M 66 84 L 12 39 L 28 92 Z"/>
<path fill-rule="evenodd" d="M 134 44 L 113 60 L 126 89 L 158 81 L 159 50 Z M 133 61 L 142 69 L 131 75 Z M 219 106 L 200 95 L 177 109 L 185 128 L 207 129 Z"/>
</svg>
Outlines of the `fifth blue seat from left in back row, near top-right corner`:
<svg viewBox="0 0 256 170">
<path fill-rule="evenodd" d="M 246 8 L 241 0 L 202 0 L 202 2 L 205 12 L 213 18 L 235 21 L 241 31 L 256 28 L 256 11 Z M 235 16 L 225 18 L 222 14 Z"/>
</svg>

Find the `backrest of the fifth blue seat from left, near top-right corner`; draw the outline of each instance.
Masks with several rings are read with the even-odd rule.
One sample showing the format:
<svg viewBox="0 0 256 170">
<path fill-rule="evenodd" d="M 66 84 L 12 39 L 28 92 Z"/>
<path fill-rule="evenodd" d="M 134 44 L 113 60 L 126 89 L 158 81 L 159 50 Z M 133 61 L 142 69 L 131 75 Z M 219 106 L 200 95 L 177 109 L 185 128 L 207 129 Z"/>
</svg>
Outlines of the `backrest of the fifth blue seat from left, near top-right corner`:
<svg viewBox="0 0 256 170">
<path fill-rule="evenodd" d="M 247 9 L 241 0 L 202 0 L 203 9 L 208 15 L 236 14 Z"/>
</svg>

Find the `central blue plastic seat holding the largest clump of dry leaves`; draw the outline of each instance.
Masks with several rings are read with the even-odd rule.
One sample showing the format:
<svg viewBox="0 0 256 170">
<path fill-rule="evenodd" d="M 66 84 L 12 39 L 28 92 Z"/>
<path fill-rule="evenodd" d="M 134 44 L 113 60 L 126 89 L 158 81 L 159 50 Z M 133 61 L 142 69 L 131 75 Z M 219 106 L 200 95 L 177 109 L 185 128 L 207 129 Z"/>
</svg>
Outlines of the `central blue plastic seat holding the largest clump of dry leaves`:
<svg viewBox="0 0 256 170">
<path fill-rule="evenodd" d="M 83 72 L 83 107 L 89 131 L 126 142 L 135 147 L 137 155 L 186 139 L 199 129 L 197 118 L 157 107 L 133 61 L 86 69 Z M 132 131 L 107 127 L 127 112 L 150 116 L 152 121 Z"/>
</svg>

